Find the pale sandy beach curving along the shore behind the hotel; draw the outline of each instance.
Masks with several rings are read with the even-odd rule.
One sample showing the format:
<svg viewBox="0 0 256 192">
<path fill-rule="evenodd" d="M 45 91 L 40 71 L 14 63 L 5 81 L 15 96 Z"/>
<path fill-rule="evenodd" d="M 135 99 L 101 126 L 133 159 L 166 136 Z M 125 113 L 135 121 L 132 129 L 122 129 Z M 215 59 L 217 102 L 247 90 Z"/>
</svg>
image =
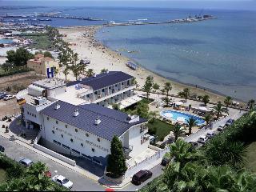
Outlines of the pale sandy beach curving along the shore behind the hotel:
<svg viewBox="0 0 256 192">
<path fill-rule="evenodd" d="M 87 69 L 93 69 L 95 73 L 100 73 L 102 69 L 107 70 L 120 70 L 127 74 L 133 75 L 140 88 L 144 85 L 147 76 L 152 75 L 154 82 L 160 85 L 162 89 L 165 82 L 171 82 L 173 89 L 170 94 L 178 94 L 179 91 L 186 87 L 190 88 L 191 93 L 198 95 L 208 94 L 210 95 L 211 102 L 218 102 L 223 100 L 223 96 L 214 94 L 208 90 L 202 90 L 196 87 L 183 85 L 178 82 L 170 81 L 169 79 L 163 78 L 158 74 L 154 74 L 149 70 L 140 67 L 139 70 L 131 70 L 126 66 L 126 62 L 130 59 L 122 56 L 114 50 L 110 50 L 106 46 L 103 46 L 100 42 L 95 40 L 94 35 L 100 26 L 84 26 L 84 27 L 70 27 L 70 28 L 59 28 L 61 34 L 65 34 L 64 41 L 72 43 L 70 46 L 75 52 L 79 54 L 79 58 L 90 59 L 90 65 Z M 69 80 L 74 80 L 74 75 L 68 75 Z"/>
</svg>

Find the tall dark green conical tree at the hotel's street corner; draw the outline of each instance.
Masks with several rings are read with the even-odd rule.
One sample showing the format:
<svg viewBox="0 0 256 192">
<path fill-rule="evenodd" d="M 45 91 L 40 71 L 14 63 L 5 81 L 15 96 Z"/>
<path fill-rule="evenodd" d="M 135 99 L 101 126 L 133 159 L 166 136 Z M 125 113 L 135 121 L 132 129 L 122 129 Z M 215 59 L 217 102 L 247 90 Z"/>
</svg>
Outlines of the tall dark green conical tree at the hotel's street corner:
<svg viewBox="0 0 256 192">
<path fill-rule="evenodd" d="M 106 171 L 110 173 L 110 177 L 118 178 L 125 174 L 127 167 L 126 158 L 122 150 L 122 142 L 117 136 L 112 139 L 110 150 L 111 154 L 107 159 Z"/>
</svg>

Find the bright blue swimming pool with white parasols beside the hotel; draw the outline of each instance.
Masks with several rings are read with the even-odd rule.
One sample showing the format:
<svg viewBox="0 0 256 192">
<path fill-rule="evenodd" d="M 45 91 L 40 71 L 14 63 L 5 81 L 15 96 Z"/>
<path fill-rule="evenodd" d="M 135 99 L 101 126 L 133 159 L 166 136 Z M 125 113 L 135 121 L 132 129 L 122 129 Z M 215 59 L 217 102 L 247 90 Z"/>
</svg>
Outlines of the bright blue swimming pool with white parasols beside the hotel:
<svg viewBox="0 0 256 192">
<path fill-rule="evenodd" d="M 170 118 L 174 121 L 184 119 L 185 123 L 186 123 L 186 120 L 188 120 L 190 118 L 195 118 L 197 120 L 198 126 L 201 126 L 202 124 L 205 123 L 205 120 L 203 120 L 202 118 L 199 118 L 198 116 L 195 116 L 193 114 L 182 113 L 182 112 L 179 112 L 176 110 L 163 110 L 163 111 L 161 111 L 160 114 L 163 118 Z"/>
</svg>

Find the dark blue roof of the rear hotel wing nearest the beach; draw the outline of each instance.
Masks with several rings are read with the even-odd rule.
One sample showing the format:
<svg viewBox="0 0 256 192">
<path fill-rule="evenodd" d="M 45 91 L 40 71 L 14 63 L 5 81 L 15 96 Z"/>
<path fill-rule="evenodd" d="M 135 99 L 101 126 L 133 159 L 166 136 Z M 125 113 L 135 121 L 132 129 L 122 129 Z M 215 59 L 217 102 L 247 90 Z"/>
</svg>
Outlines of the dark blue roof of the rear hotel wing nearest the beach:
<svg viewBox="0 0 256 192">
<path fill-rule="evenodd" d="M 124 82 L 130 78 L 134 78 L 130 74 L 122 71 L 110 71 L 108 73 L 98 74 L 96 77 L 83 78 L 82 81 L 68 82 L 66 86 L 74 86 L 78 83 L 91 86 L 94 90 L 100 90 L 106 86 L 112 86 L 118 82 Z"/>
</svg>

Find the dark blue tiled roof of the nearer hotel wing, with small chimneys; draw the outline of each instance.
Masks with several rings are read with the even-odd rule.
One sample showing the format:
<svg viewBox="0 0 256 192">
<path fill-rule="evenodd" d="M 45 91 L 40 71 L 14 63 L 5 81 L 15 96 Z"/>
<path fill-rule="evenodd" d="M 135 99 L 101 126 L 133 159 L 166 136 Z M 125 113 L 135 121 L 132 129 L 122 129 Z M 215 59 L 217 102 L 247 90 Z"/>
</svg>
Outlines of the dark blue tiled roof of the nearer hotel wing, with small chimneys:
<svg viewBox="0 0 256 192">
<path fill-rule="evenodd" d="M 145 118 L 139 118 L 138 122 L 127 122 L 128 115 L 118 110 L 111 110 L 96 104 L 74 106 L 67 102 L 58 101 L 60 108 L 54 109 L 55 103 L 41 111 L 51 118 L 58 119 L 70 126 L 85 130 L 98 137 L 111 141 L 114 135 L 120 137 L 126 130 L 136 124 L 146 122 Z M 78 109 L 78 116 L 74 117 L 74 110 Z M 101 123 L 95 125 L 95 119 L 100 118 Z"/>
</svg>

